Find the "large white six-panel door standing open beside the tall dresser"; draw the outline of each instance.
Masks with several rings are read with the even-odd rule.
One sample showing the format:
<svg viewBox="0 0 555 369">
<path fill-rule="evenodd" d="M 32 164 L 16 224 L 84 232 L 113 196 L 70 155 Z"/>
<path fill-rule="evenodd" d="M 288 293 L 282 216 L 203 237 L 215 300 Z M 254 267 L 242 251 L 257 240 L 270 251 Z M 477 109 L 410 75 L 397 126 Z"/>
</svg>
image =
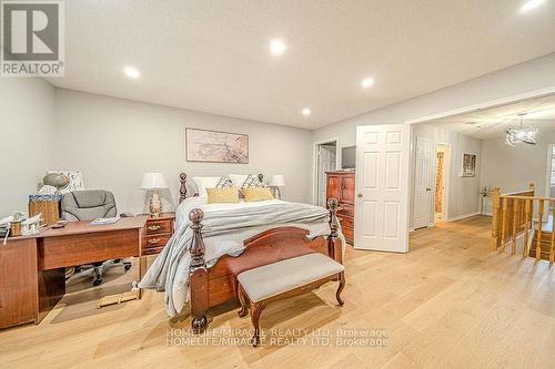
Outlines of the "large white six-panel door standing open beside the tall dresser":
<svg viewBox="0 0 555 369">
<path fill-rule="evenodd" d="M 411 126 L 356 127 L 354 247 L 408 252 Z"/>
</svg>

